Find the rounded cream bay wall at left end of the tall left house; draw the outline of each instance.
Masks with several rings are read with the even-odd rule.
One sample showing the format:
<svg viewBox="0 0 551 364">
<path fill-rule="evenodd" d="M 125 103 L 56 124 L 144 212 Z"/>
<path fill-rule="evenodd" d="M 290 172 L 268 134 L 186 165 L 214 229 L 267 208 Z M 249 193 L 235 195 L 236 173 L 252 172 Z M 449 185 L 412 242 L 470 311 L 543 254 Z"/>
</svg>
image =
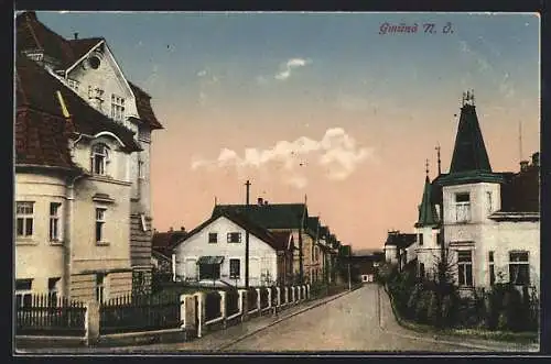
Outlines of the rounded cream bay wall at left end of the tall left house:
<svg viewBox="0 0 551 364">
<path fill-rule="evenodd" d="M 31 239 L 15 240 L 15 279 L 32 278 L 32 290 L 47 293 L 48 278 L 61 277 L 57 289 L 63 295 L 64 245 L 63 239 L 65 209 L 67 200 L 65 181 L 55 176 L 32 173 L 15 174 L 15 201 L 34 201 L 33 235 Z M 58 216 L 61 241 L 50 242 L 50 203 L 62 203 Z M 14 211 L 17 212 L 17 211 Z M 15 213 L 14 213 L 15 217 Z M 15 234 L 15 221 L 13 223 Z"/>
</svg>

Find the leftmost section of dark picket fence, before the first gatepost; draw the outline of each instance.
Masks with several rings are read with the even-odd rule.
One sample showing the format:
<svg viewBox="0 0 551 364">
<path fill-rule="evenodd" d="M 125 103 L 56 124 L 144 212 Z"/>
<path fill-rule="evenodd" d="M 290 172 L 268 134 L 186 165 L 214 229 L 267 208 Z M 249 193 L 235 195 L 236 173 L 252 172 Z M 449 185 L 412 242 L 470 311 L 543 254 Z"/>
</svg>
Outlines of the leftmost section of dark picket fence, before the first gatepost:
<svg viewBox="0 0 551 364">
<path fill-rule="evenodd" d="M 33 295 L 30 306 L 17 307 L 17 335 L 84 337 L 86 307 L 54 295 Z"/>
</svg>

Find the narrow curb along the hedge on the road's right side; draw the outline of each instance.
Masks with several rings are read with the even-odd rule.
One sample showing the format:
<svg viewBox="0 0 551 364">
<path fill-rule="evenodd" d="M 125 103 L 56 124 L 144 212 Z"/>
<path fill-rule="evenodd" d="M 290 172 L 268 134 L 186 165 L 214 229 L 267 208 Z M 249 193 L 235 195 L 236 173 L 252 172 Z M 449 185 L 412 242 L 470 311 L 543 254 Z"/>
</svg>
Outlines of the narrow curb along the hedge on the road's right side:
<svg viewBox="0 0 551 364">
<path fill-rule="evenodd" d="M 483 345 L 483 344 L 477 344 L 477 343 L 463 343 L 463 342 L 455 342 L 455 341 L 449 341 L 449 340 L 439 340 L 436 339 L 437 338 L 437 334 L 434 334 L 434 338 L 433 339 L 430 339 L 430 338 L 422 338 L 422 337 L 415 337 L 415 335 L 409 335 L 409 334 L 403 334 L 403 333 L 400 333 L 400 332 L 396 332 L 396 331 L 391 331 L 391 330 L 387 330 L 386 328 L 383 328 L 382 326 L 382 320 L 381 320 L 381 301 L 380 301 L 380 287 L 377 287 L 377 300 L 378 300 L 378 315 L 379 315 L 379 329 L 381 329 L 382 331 L 385 332 L 388 332 L 388 333 L 391 333 L 391 334 L 395 334 L 395 335 L 398 335 L 398 337 L 401 337 L 401 338 L 406 338 L 406 339 L 413 339 L 413 340 L 419 340 L 419 341 L 424 341 L 424 342 L 431 342 L 431 343 L 441 343 L 441 344 L 447 344 L 447 345 L 455 345 L 455 346 L 460 346 L 460 348 L 474 348 L 474 349 L 482 349 L 482 350 L 487 350 L 487 351 L 504 351 L 504 348 L 498 348 L 496 349 L 495 346 L 488 346 L 488 345 Z M 409 330 L 409 331 L 413 331 L 413 332 L 417 332 L 417 333 L 421 333 L 414 329 L 411 329 L 411 328 L 408 328 L 402 321 L 402 318 L 397 313 L 396 311 L 396 308 L 395 308 L 395 304 L 392 301 L 392 297 L 391 295 L 387 291 L 387 287 L 385 287 L 385 291 L 387 293 L 387 295 L 389 296 L 389 300 L 390 300 L 390 307 L 392 309 L 392 315 L 396 319 L 396 322 L 402 328 L 402 329 L 406 329 L 406 330 Z M 457 335 L 457 339 L 461 340 L 461 339 L 473 339 L 473 340 L 477 340 L 476 338 L 461 338 Z M 479 339 L 478 339 L 479 340 Z M 507 342 L 496 342 L 496 343 L 499 343 L 499 344 L 506 344 Z M 528 344 L 527 346 L 530 346 L 530 344 Z M 511 352 L 533 352 L 533 351 L 539 351 L 541 348 L 540 345 L 538 345 L 538 348 L 534 348 L 533 350 L 530 350 L 529 348 L 527 348 L 526 350 L 510 350 Z"/>
</svg>

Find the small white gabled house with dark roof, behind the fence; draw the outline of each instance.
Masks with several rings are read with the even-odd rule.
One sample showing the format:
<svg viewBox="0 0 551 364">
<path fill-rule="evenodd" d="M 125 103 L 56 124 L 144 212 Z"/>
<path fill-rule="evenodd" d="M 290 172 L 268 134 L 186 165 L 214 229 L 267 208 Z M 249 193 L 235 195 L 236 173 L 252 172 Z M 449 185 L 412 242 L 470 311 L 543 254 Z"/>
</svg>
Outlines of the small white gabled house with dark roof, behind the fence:
<svg viewBox="0 0 551 364">
<path fill-rule="evenodd" d="M 229 211 L 215 213 L 175 245 L 176 280 L 244 287 L 247 231 L 249 286 L 269 286 L 278 282 L 278 252 L 292 254 L 289 234 L 272 234 L 249 222 L 242 214 Z M 291 262 L 287 263 L 282 262 L 291 268 Z"/>
</svg>

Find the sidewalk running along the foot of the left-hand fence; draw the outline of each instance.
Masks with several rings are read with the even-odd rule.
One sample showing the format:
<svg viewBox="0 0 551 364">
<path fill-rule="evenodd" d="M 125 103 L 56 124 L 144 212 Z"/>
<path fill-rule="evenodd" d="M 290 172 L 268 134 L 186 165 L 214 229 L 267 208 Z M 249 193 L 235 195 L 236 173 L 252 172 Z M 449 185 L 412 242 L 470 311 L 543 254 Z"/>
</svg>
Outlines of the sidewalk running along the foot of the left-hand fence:
<svg viewBox="0 0 551 364">
<path fill-rule="evenodd" d="M 354 290 L 354 289 L 353 289 Z M 170 352 L 216 352 L 225 349 L 236 342 L 239 342 L 249 335 L 252 335 L 261 330 L 264 330 L 278 322 L 284 321 L 293 316 L 300 315 L 304 311 L 311 310 L 315 307 L 325 305 L 335 300 L 344 295 L 349 294 L 352 290 L 345 290 L 341 294 L 323 297 L 315 300 L 301 302 L 290 308 L 280 311 L 277 316 L 266 313 L 262 317 L 252 317 L 248 321 L 237 323 L 227 329 L 222 329 L 213 332 L 206 332 L 201 339 L 193 339 L 188 342 L 182 343 L 165 343 L 165 344 L 151 344 L 139 346 L 119 346 L 119 348 L 44 348 L 44 349 L 20 349 L 18 353 L 74 353 L 74 354 L 89 354 L 89 353 L 120 353 L 120 354 L 136 354 L 136 353 L 170 353 Z"/>
</svg>

